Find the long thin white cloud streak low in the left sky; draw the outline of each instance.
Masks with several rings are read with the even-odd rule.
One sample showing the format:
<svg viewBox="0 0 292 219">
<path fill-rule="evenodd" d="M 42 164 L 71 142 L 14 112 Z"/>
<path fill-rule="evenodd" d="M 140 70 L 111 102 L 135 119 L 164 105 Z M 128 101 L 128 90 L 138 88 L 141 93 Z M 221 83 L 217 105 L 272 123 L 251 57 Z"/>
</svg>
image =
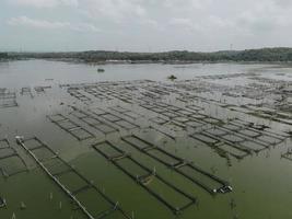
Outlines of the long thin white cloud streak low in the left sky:
<svg viewBox="0 0 292 219">
<path fill-rule="evenodd" d="M 8 21 L 11 26 L 26 26 L 44 30 L 71 30 L 77 32 L 101 32 L 100 28 L 89 23 L 51 22 L 45 20 L 34 20 L 27 16 L 12 18 Z"/>
</svg>

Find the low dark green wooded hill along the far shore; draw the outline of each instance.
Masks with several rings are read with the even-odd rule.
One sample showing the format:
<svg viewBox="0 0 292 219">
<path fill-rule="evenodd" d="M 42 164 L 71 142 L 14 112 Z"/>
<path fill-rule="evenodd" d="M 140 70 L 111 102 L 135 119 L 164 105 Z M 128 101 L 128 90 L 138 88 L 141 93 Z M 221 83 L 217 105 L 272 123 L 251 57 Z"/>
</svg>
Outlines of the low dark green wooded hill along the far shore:
<svg viewBox="0 0 292 219">
<path fill-rule="evenodd" d="M 0 54 L 1 56 L 1 54 Z M 292 61 L 292 48 L 261 48 L 196 53 L 174 50 L 165 53 L 129 53 L 89 50 L 72 53 L 10 53 L 9 58 L 73 59 L 83 62 L 196 62 L 196 61 Z"/>
</svg>

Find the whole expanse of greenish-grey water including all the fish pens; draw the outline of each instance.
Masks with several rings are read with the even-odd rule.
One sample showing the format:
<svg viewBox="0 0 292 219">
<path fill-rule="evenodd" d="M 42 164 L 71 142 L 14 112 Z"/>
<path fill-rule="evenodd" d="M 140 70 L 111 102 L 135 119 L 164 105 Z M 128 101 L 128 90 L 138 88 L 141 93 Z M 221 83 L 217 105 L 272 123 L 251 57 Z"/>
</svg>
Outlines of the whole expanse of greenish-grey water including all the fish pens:
<svg viewBox="0 0 292 219">
<path fill-rule="evenodd" d="M 0 62 L 0 218 L 292 217 L 290 68 L 101 68 Z"/>
</svg>

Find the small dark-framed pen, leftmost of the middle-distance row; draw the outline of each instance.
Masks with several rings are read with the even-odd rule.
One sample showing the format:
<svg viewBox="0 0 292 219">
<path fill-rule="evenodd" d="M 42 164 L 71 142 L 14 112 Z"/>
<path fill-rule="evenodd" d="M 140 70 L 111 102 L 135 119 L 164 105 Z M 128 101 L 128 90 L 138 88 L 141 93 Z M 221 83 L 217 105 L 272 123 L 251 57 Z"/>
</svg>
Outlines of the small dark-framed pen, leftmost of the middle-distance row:
<svg viewBox="0 0 292 219">
<path fill-rule="evenodd" d="M 71 134 L 78 140 L 86 140 L 90 138 L 94 138 L 94 135 L 91 134 L 89 130 L 82 128 L 79 124 L 71 120 L 70 118 L 63 116 L 62 114 L 56 114 L 51 116 L 47 116 L 51 123 L 59 126 L 61 129 L 66 130 L 67 132 Z"/>
</svg>

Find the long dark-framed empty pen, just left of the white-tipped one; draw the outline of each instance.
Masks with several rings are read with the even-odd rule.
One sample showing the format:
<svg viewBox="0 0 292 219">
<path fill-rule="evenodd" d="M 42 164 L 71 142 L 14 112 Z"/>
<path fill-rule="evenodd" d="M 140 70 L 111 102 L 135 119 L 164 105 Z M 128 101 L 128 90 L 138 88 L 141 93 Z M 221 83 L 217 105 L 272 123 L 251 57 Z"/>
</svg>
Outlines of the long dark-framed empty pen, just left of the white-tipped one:
<svg viewBox="0 0 292 219">
<path fill-rule="evenodd" d="M 174 214 L 177 215 L 196 203 L 195 197 L 164 180 L 155 170 L 144 166 L 113 143 L 104 141 L 93 145 L 93 148 Z M 163 194 L 161 187 L 163 187 Z M 167 196 L 176 198 L 168 199 Z"/>
</svg>

